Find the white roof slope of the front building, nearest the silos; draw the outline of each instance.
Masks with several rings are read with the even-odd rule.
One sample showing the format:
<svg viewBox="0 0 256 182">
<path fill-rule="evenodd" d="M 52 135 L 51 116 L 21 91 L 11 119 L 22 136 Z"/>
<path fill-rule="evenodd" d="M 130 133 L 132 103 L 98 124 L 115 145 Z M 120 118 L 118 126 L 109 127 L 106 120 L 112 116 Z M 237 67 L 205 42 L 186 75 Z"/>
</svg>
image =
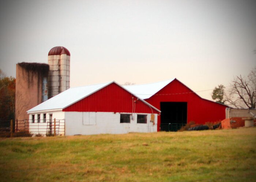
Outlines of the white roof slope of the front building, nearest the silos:
<svg viewBox="0 0 256 182">
<path fill-rule="evenodd" d="M 60 94 L 46 100 L 45 102 L 31 108 L 27 112 L 63 109 L 93 94 L 101 88 L 108 86 L 110 83 L 113 82 L 69 88 L 68 90 L 65 90 Z"/>
</svg>

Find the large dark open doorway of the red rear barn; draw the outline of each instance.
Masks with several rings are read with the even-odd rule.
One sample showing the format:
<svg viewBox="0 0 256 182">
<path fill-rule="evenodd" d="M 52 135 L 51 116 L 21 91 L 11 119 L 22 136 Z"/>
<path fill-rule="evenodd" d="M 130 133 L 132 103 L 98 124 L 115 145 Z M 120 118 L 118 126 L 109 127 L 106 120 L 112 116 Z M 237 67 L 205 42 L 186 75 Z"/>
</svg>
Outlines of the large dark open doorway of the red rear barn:
<svg viewBox="0 0 256 182">
<path fill-rule="evenodd" d="M 161 102 L 161 131 L 177 131 L 187 124 L 187 102 Z"/>
</svg>

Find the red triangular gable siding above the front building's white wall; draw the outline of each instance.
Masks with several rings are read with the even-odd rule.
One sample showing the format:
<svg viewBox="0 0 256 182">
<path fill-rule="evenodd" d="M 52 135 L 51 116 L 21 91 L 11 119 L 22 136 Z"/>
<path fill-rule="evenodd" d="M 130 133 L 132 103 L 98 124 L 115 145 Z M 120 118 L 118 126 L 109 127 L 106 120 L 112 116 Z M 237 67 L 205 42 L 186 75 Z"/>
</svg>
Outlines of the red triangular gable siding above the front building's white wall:
<svg viewBox="0 0 256 182">
<path fill-rule="evenodd" d="M 116 83 L 112 83 L 94 94 L 64 108 L 63 111 L 77 112 L 132 112 L 132 97 L 135 102 L 135 111 L 138 113 L 158 113 L 150 106 L 137 100 Z"/>
</svg>

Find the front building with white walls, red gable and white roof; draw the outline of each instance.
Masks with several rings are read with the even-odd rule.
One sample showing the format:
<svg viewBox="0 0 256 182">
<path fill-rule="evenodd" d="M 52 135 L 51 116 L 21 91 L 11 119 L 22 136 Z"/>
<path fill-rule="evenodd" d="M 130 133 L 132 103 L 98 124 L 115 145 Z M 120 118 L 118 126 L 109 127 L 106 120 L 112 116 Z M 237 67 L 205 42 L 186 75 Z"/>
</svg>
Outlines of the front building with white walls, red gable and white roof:
<svg viewBox="0 0 256 182">
<path fill-rule="evenodd" d="M 160 112 L 116 82 L 69 88 L 27 111 L 30 132 L 41 135 L 54 118 L 63 135 L 157 132 Z"/>
</svg>

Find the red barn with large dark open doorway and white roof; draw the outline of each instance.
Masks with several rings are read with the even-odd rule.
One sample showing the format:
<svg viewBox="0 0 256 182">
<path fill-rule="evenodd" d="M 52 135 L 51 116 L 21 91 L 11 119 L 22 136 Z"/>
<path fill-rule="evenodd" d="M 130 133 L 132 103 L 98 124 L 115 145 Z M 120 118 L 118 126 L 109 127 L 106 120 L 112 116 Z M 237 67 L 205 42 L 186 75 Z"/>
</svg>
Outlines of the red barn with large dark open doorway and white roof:
<svg viewBox="0 0 256 182">
<path fill-rule="evenodd" d="M 201 98 L 178 79 L 125 86 L 129 91 L 161 110 L 158 131 L 177 131 L 182 125 L 225 119 L 225 104 Z"/>
</svg>

